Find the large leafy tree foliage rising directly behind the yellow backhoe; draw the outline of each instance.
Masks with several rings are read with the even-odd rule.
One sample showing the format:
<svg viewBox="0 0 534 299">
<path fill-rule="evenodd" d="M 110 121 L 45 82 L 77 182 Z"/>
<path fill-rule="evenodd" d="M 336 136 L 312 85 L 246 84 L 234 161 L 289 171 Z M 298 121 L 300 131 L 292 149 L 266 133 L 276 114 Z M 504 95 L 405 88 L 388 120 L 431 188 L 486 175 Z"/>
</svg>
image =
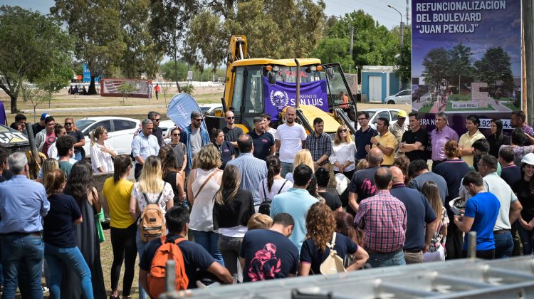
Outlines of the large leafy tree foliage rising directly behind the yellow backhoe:
<svg viewBox="0 0 534 299">
<path fill-rule="evenodd" d="M 231 35 L 246 36 L 253 58 L 309 57 L 323 35 L 324 10 L 322 0 L 210 1 L 192 20 L 197 34 L 190 35 L 187 44 L 198 52 L 188 60 L 216 68 L 227 54 Z"/>
</svg>

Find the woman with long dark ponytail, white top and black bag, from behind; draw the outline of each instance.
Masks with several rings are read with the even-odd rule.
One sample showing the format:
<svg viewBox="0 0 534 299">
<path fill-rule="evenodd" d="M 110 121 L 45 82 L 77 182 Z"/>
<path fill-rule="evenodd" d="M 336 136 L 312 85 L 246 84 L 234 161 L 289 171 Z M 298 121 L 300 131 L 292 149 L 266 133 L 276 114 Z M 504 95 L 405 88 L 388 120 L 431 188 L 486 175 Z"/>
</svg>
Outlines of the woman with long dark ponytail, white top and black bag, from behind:
<svg viewBox="0 0 534 299">
<path fill-rule="evenodd" d="M 289 188 L 293 187 L 293 183 L 280 175 L 282 164 L 277 156 L 268 156 L 266 162 L 267 177 L 261 181 L 258 194 L 260 194 L 262 201 L 265 199 L 272 201 L 276 194 L 286 192 Z"/>
</svg>

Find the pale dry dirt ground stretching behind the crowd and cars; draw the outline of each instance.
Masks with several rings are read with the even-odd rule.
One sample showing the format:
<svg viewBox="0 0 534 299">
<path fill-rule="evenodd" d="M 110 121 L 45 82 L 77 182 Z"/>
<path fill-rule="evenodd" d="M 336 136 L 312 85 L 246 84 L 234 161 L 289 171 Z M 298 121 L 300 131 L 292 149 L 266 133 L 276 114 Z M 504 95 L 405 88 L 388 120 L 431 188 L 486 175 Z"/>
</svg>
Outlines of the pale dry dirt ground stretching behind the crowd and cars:
<svg viewBox="0 0 534 299">
<path fill-rule="evenodd" d="M 175 89 L 175 88 L 174 88 Z M 171 98 L 176 94 L 176 90 L 170 90 L 166 95 L 159 95 L 159 100 L 142 98 L 122 97 L 101 97 L 100 95 L 68 95 L 67 90 L 56 93 L 53 100 L 48 103 L 39 103 L 36 107 L 35 118 L 38 121 L 39 115 L 44 112 L 53 115 L 59 120 L 65 117 L 73 117 L 75 120 L 88 116 L 122 116 L 143 119 L 149 111 L 158 111 L 163 117 L 167 114 L 167 106 Z M 192 96 L 198 103 L 220 103 L 224 95 L 224 86 L 195 88 Z M 122 103 L 124 100 L 124 103 Z M 6 107 L 8 123 L 14 122 L 15 115 L 11 114 L 10 98 L 3 90 L 0 90 L 0 101 Z M 18 107 L 26 117 L 28 122 L 34 122 L 33 106 L 30 102 L 23 102 L 19 97 Z M 110 107 L 109 110 L 102 110 L 102 107 Z M 407 112 L 412 110 L 410 105 L 387 105 L 375 103 L 358 103 L 358 110 L 369 108 L 389 107 L 403 109 Z"/>
</svg>

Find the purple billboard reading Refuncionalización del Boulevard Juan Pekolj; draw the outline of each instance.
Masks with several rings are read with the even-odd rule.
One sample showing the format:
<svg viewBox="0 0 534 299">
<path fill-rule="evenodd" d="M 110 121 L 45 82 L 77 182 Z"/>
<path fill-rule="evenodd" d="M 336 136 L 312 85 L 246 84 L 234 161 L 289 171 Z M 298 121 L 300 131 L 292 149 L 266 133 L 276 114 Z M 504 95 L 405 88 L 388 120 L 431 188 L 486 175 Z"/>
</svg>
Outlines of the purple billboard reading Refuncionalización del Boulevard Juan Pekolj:
<svg viewBox="0 0 534 299">
<path fill-rule="evenodd" d="M 471 114 L 481 129 L 493 118 L 511 129 L 521 109 L 520 1 L 412 0 L 412 12 L 412 110 L 426 130 L 437 112 L 459 135 Z"/>
</svg>

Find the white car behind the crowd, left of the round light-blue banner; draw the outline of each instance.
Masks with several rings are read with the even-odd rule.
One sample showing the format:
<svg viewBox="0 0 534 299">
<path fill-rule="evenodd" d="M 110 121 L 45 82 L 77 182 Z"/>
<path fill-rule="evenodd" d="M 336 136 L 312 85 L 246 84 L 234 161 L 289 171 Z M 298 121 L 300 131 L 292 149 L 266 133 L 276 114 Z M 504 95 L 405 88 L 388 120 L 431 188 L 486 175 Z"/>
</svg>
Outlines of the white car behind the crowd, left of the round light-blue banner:
<svg viewBox="0 0 534 299">
<path fill-rule="evenodd" d="M 140 120 L 127 117 L 100 116 L 87 117 L 75 121 L 78 130 L 85 136 L 85 156 L 90 157 L 90 133 L 97 127 L 103 126 L 108 130 L 108 142 L 118 154 L 132 153 L 132 140 L 135 131 L 141 127 Z"/>
</svg>

